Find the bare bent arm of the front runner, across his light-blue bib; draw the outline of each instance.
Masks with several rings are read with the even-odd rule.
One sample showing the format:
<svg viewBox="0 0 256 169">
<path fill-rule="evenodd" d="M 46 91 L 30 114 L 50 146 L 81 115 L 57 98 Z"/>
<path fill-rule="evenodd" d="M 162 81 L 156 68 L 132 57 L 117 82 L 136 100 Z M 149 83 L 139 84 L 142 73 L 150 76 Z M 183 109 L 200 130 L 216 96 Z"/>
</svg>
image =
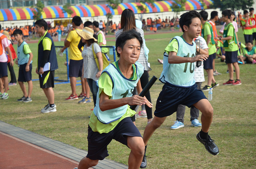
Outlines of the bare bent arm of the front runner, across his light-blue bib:
<svg viewBox="0 0 256 169">
<path fill-rule="evenodd" d="M 146 103 L 146 99 L 140 97 L 139 95 L 134 95 L 132 97 L 124 97 L 121 99 L 109 99 L 109 96 L 106 95 L 103 90 L 99 96 L 99 108 L 101 111 L 106 111 L 110 109 L 115 109 L 126 104 L 129 105 L 143 105 Z"/>
</svg>

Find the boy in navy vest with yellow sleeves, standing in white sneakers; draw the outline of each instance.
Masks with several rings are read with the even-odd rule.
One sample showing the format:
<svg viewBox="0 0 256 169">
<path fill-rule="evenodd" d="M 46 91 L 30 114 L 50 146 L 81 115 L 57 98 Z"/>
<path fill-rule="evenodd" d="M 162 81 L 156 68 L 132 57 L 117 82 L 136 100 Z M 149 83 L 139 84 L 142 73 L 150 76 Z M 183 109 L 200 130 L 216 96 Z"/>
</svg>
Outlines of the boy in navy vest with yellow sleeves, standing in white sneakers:
<svg viewBox="0 0 256 169">
<path fill-rule="evenodd" d="M 41 38 L 38 41 L 38 65 L 35 72 L 39 75 L 40 88 L 47 97 L 48 104 L 41 109 L 42 113 L 56 112 L 54 102 L 54 72 L 58 69 L 54 42 L 47 32 L 48 24 L 45 20 L 37 20 L 35 27 Z"/>
</svg>

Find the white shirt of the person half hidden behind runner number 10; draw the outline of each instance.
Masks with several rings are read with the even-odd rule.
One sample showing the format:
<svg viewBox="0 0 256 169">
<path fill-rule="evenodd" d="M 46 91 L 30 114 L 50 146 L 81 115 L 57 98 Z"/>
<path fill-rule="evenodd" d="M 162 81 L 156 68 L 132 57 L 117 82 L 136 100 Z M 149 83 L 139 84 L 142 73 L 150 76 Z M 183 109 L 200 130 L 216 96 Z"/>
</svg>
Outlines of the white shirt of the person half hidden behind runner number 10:
<svg viewBox="0 0 256 169">
<path fill-rule="evenodd" d="M 201 49 L 208 49 L 207 43 L 203 37 L 199 36 L 196 39 L 200 40 L 199 47 Z M 195 79 L 195 82 L 204 82 L 205 81 L 204 80 L 204 62 L 202 62 L 201 66 L 199 66 L 199 67 L 196 67 L 196 62 L 195 62 L 194 79 Z"/>
</svg>

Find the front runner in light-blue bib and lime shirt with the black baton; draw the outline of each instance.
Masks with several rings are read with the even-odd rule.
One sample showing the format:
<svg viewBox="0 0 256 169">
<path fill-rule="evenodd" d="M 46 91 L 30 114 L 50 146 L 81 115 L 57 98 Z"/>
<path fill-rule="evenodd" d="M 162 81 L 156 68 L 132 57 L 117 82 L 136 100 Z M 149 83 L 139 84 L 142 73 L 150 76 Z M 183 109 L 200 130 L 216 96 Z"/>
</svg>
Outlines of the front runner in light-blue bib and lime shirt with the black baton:
<svg viewBox="0 0 256 169">
<path fill-rule="evenodd" d="M 99 77 L 96 107 L 90 116 L 88 126 L 88 154 L 81 159 L 78 169 L 96 166 L 99 160 L 108 156 L 107 146 L 115 139 L 128 146 L 131 153 L 129 169 L 139 169 L 143 159 L 142 136 L 131 120 L 136 112 L 128 105 L 152 104 L 138 95 L 132 96 L 135 86 L 142 91 L 140 77 L 144 67 L 137 62 L 143 40 L 134 29 L 122 32 L 116 39 L 119 60 L 107 66 Z"/>
</svg>

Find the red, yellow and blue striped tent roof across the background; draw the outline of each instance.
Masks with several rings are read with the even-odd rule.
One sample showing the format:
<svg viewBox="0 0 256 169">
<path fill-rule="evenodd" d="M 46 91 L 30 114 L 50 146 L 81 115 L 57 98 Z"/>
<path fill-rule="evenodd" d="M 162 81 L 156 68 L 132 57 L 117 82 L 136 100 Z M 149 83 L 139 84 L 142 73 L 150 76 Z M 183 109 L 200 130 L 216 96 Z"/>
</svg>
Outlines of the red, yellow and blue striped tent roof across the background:
<svg viewBox="0 0 256 169">
<path fill-rule="evenodd" d="M 71 17 L 76 15 L 80 17 L 94 17 L 94 16 L 104 16 L 107 13 L 112 13 L 113 15 L 122 14 L 124 9 L 131 9 L 134 11 L 134 14 L 140 14 L 142 11 L 137 8 L 137 6 L 147 6 L 145 13 L 153 13 L 153 12 L 166 12 L 172 11 L 172 3 L 174 1 L 155 1 L 154 7 L 148 4 L 143 3 L 121 3 L 118 8 L 113 10 L 109 9 L 106 4 L 104 5 L 87 5 L 87 6 L 71 6 L 73 10 L 73 14 Z M 210 4 L 212 4 L 212 0 L 204 0 L 205 6 L 204 9 L 208 9 Z M 185 5 L 185 10 L 200 10 L 203 9 L 201 6 L 201 2 L 198 0 L 187 0 Z M 32 20 L 33 12 L 32 8 L 22 8 L 22 9 L 0 9 L 0 21 L 7 20 Z M 50 18 L 68 18 L 67 13 L 62 13 L 62 6 L 51 6 L 45 7 L 44 12 L 42 14 L 42 19 L 50 19 Z"/>
</svg>

